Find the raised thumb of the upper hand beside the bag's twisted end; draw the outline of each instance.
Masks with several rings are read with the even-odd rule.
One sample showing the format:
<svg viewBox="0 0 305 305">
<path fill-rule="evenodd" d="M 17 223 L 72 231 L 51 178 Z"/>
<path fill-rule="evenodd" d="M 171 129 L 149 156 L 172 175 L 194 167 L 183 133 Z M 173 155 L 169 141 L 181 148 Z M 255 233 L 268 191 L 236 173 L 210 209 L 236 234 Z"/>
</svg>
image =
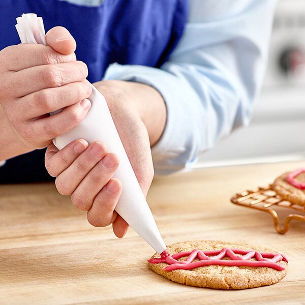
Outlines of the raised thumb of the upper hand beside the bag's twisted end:
<svg viewBox="0 0 305 305">
<path fill-rule="evenodd" d="M 76 49 L 76 42 L 68 29 L 63 26 L 55 26 L 46 34 L 47 45 L 56 52 L 69 55 Z"/>
</svg>

